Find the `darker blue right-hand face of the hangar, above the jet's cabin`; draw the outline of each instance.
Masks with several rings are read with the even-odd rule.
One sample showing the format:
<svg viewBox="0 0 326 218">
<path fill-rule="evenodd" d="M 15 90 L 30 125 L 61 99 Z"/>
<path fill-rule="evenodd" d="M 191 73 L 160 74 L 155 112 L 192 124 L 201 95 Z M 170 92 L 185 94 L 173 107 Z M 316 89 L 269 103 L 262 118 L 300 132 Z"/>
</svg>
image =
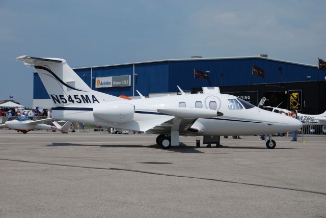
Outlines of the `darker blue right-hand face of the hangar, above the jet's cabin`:
<svg viewBox="0 0 326 218">
<path fill-rule="evenodd" d="M 265 78 L 252 75 L 253 65 L 265 71 Z M 279 67 L 282 71 L 279 71 Z M 315 80 L 316 67 L 284 63 L 260 58 L 229 60 L 173 61 L 169 63 L 169 90 L 179 85 L 184 90 L 206 86 L 241 86 L 265 83 Z M 194 69 L 209 71 L 208 79 L 194 78 Z"/>
</svg>

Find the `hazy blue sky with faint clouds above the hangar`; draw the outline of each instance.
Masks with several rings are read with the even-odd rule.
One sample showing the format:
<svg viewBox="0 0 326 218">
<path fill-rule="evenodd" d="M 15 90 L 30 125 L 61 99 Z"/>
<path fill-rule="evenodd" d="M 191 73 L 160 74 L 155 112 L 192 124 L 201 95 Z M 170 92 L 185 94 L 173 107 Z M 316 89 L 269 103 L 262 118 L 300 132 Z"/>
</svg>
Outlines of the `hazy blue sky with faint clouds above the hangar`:
<svg viewBox="0 0 326 218">
<path fill-rule="evenodd" d="M 0 100 L 31 107 L 22 55 L 88 67 L 165 59 L 326 60 L 323 0 L 0 0 Z"/>
</svg>

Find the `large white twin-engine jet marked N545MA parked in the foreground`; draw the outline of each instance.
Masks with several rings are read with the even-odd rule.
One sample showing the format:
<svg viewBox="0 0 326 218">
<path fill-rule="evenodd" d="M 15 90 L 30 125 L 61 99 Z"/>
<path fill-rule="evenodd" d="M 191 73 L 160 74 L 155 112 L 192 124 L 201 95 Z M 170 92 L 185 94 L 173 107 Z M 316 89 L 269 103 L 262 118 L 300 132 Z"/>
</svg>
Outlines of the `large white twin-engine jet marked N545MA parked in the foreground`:
<svg viewBox="0 0 326 218">
<path fill-rule="evenodd" d="M 203 94 L 126 100 L 97 92 L 85 84 L 64 59 L 21 56 L 16 60 L 38 72 L 52 102 L 52 116 L 117 129 L 158 134 L 162 148 L 179 145 L 179 135 L 204 135 L 204 143 L 219 135 L 253 135 L 293 131 L 302 123 L 261 110 L 219 88 Z M 275 148 L 274 140 L 266 142 Z"/>
</svg>

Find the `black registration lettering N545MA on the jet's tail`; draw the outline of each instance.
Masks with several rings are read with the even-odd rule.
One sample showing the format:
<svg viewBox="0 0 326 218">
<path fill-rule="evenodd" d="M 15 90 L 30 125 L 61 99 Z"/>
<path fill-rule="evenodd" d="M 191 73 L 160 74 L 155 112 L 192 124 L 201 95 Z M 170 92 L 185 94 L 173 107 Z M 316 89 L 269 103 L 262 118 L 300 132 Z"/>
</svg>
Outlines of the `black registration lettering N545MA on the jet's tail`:
<svg viewBox="0 0 326 218">
<path fill-rule="evenodd" d="M 94 95 L 90 98 L 89 95 L 50 95 L 52 98 L 53 103 L 55 104 L 66 104 L 66 103 L 99 103 Z"/>
</svg>

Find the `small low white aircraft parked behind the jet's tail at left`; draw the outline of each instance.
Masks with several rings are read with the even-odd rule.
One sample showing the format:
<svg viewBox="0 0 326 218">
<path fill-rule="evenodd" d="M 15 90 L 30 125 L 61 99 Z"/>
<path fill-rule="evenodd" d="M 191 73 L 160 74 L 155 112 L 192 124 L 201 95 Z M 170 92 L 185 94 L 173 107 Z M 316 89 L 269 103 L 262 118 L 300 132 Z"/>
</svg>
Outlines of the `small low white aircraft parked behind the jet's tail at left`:
<svg viewBox="0 0 326 218">
<path fill-rule="evenodd" d="M 55 126 L 47 125 L 45 123 L 53 123 Z M 42 120 L 30 120 L 26 117 L 18 117 L 14 120 L 7 121 L 5 124 L 0 126 L 7 126 L 8 128 L 17 130 L 26 134 L 27 132 L 33 129 L 45 129 L 45 130 L 59 130 L 63 131 L 68 129 L 71 125 L 71 122 L 66 122 L 63 126 L 60 126 L 57 122 L 55 122 L 54 118 L 46 118 Z"/>
</svg>

